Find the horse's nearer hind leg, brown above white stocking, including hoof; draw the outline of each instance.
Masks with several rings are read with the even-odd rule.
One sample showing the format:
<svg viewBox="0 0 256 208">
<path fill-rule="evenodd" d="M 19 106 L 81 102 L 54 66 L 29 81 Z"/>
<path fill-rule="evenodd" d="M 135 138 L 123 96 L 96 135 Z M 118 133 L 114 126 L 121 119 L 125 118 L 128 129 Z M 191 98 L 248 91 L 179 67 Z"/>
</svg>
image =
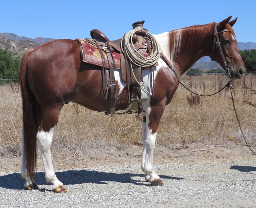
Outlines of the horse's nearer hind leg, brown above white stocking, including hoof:
<svg viewBox="0 0 256 208">
<path fill-rule="evenodd" d="M 37 132 L 37 140 L 42 154 L 46 181 L 53 184 L 53 191 L 58 193 L 66 192 L 66 188 L 55 175 L 50 147 L 54 128 L 58 122 L 59 112 L 61 111 L 62 106 L 63 105 L 60 104 L 58 106 L 47 106 L 42 109 L 42 120 L 39 131 Z"/>
</svg>

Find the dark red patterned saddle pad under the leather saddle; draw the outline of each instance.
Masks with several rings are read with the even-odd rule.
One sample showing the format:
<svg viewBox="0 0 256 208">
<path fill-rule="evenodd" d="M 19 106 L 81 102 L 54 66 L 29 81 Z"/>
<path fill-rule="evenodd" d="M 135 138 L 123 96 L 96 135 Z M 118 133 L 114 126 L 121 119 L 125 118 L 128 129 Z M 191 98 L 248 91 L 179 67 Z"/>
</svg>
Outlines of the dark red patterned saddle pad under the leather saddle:
<svg viewBox="0 0 256 208">
<path fill-rule="evenodd" d="M 101 54 L 95 45 L 90 44 L 88 41 L 86 41 L 86 39 L 82 40 L 77 38 L 75 40 L 80 45 L 80 53 L 83 58 L 83 62 L 103 67 Z M 107 55 L 105 51 L 103 51 L 103 54 L 105 56 L 105 59 L 107 60 Z M 115 61 L 115 69 L 120 69 L 121 68 L 120 53 L 112 51 L 112 54 Z M 106 67 L 109 68 L 108 61 L 106 61 Z"/>
</svg>

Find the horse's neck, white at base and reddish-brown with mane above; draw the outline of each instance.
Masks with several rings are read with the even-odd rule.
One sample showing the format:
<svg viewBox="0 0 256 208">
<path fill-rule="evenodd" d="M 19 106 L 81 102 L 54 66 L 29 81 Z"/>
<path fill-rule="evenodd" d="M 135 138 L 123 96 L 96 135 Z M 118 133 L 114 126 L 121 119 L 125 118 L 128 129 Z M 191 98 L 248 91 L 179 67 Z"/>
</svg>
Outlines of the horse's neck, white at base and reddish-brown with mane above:
<svg viewBox="0 0 256 208">
<path fill-rule="evenodd" d="M 209 55 L 212 24 L 191 26 L 155 35 L 162 52 L 182 75 L 201 57 Z"/>
</svg>

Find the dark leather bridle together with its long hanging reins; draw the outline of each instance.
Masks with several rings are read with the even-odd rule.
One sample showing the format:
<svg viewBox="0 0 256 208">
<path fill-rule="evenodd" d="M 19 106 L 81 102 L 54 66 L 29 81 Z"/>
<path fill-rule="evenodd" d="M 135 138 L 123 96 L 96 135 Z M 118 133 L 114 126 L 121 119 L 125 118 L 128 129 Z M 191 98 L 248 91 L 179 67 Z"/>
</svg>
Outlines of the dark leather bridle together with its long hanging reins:
<svg viewBox="0 0 256 208">
<path fill-rule="evenodd" d="M 231 85 L 231 81 L 232 81 L 231 75 L 230 75 L 231 70 L 230 70 L 229 66 L 227 66 L 226 59 L 225 59 L 225 57 L 224 57 L 224 54 L 223 54 L 223 52 L 222 52 L 221 45 L 220 45 L 220 43 L 219 43 L 219 36 L 218 36 L 218 34 L 223 33 L 223 32 L 226 32 L 226 31 L 229 31 L 229 29 L 224 29 L 223 31 L 218 32 L 218 31 L 217 31 L 217 23 L 215 24 L 215 26 L 214 26 L 214 45 L 213 45 L 213 52 L 212 52 L 212 54 L 211 54 L 211 60 L 212 60 L 212 58 L 213 58 L 214 49 L 215 49 L 215 45 L 216 45 L 216 46 L 218 47 L 218 49 L 219 49 L 219 53 L 221 54 L 222 59 L 223 59 L 223 62 L 224 62 L 224 64 L 225 64 L 225 72 L 226 72 L 227 78 L 229 79 L 229 82 L 228 82 L 221 90 L 219 90 L 218 92 L 216 92 L 216 93 L 214 93 L 214 94 L 211 94 L 211 95 L 200 95 L 200 94 L 194 93 L 194 92 L 192 92 L 190 89 L 188 89 L 186 86 L 184 86 L 181 82 L 179 82 L 179 83 L 181 83 L 181 85 L 182 85 L 183 87 L 185 87 L 187 90 L 189 90 L 189 92 L 191 92 L 191 93 L 193 93 L 193 94 L 195 94 L 195 95 L 199 95 L 199 96 L 212 96 L 212 95 L 216 95 L 217 93 L 221 92 L 221 91 L 222 91 L 223 89 L 225 89 L 226 87 L 229 87 L 229 88 L 230 88 L 230 92 L 231 92 L 231 98 L 232 98 L 232 103 L 233 103 L 233 109 L 234 109 L 234 112 L 235 112 L 235 116 L 236 116 L 236 118 L 237 118 L 237 122 L 238 122 L 239 128 L 240 128 L 240 130 L 241 130 L 243 139 L 245 140 L 245 143 L 246 143 L 247 147 L 251 150 L 251 152 L 252 152 L 254 155 L 256 155 L 256 154 L 254 153 L 254 151 L 253 151 L 253 150 L 250 148 L 250 146 L 248 145 L 248 143 L 247 143 L 247 141 L 246 141 L 246 138 L 245 138 L 245 135 L 243 134 L 243 130 L 242 130 L 242 127 L 241 127 L 241 123 L 240 123 L 240 121 L 239 121 L 238 114 L 237 114 L 237 111 L 236 111 L 236 109 L 235 109 L 235 103 L 234 103 L 234 98 L 233 98 L 233 94 L 232 94 L 232 90 L 234 90 L 234 88 L 233 88 L 233 86 Z"/>
</svg>

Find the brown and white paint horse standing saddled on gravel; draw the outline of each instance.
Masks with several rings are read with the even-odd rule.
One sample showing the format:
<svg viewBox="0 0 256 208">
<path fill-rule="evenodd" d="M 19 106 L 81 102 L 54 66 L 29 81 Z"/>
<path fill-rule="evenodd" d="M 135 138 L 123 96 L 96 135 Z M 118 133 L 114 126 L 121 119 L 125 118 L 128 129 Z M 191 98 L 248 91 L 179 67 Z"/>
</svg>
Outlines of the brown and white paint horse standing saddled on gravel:
<svg viewBox="0 0 256 208">
<path fill-rule="evenodd" d="M 163 185 L 153 166 L 157 129 L 165 106 L 171 102 L 179 85 L 178 76 L 183 75 L 204 56 L 211 57 L 224 69 L 229 68 L 231 79 L 240 79 L 245 73 L 232 28 L 237 18 L 230 21 L 231 17 L 219 23 L 194 25 L 154 35 L 170 63 L 167 64 L 161 57 L 153 73 L 152 69 L 142 70 L 145 89 L 154 93 L 142 102 L 141 170 L 145 173 L 145 180 L 154 186 Z M 131 92 L 121 80 L 120 70 L 115 69 L 114 73 L 116 110 L 127 110 L 131 105 Z M 106 82 L 109 81 L 108 73 L 106 78 Z M 51 159 L 54 128 L 62 107 L 69 102 L 93 111 L 107 112 L 109 97 L 102 95 L 102 67 L 82 62 L 77 41 L 59 39 L 24 54 L 19 80 L 23 102 L 21 175 L 26 180 L 25 189 L 38 189 L 33 179 L 38 142 L 46 181 L 53 185 L 54 192 L 66 192 L 63 183 L 55 175 Z"/>
</svg>

